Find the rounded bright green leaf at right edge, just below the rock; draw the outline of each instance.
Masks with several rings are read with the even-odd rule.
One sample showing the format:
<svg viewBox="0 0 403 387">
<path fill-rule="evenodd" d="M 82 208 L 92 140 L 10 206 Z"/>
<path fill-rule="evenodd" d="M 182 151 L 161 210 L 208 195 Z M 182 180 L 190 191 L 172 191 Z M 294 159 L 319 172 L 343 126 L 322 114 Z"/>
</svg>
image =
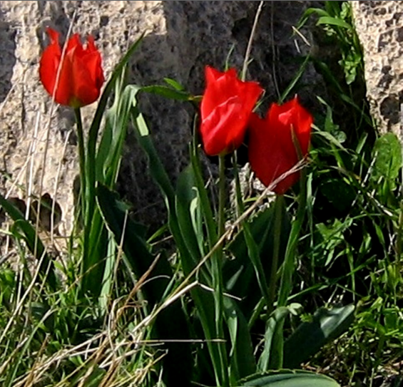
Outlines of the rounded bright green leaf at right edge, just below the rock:
<svg viewBox="0 0 403 387">
<path fill-rule="evenodd" d="M 402 167 L 402 145 L 397 135 L 386 133 L 378 138 L 374 143 L 372 157 L 374 158 L 371 176 L 373 180 L 377 181 L 381 177 L 396 179 Z"/>
</svg>

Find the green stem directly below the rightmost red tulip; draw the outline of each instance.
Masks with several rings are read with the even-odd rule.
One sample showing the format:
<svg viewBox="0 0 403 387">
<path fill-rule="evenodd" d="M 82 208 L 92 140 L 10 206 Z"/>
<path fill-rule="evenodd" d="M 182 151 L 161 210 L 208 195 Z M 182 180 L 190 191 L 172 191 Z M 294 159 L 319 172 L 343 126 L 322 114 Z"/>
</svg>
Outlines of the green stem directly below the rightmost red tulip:
<svg viewBox="0 0 403 387">
<path fill-rule="evenodd" d="M 270 303 L 267 306 L 267 316 L 270 316 L 274 310 L 275 304 L 275 289 L 277 284 L 277 269 L 280 255 L 280 238 L 281 238 L 281 225 L 282 225 L 282 207 L 284 205 L 284 196 L 277 195 L 275 200 L 275 222 L 273 233 L 273 256 L 272 267 L 270 270 L 270 282 L 269 282 L 269 299 Z"/>
</svg>

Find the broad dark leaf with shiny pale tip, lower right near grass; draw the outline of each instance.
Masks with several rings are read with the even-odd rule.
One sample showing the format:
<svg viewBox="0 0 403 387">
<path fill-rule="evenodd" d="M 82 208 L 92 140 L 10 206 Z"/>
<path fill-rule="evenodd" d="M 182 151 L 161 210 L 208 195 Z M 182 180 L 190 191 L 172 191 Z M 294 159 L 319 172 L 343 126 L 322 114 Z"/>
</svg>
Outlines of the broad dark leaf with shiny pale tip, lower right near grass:
<svg viewBox="0 0 403 387">
<path fill-rule="evenodd" d="M 353 319 L 354 305 L 318 309 L 312 321 L 302 323 L 285 341 L 284 366 L 295 368 L 309 360 L 322 346 L 343 334 Z"/>
</svg>

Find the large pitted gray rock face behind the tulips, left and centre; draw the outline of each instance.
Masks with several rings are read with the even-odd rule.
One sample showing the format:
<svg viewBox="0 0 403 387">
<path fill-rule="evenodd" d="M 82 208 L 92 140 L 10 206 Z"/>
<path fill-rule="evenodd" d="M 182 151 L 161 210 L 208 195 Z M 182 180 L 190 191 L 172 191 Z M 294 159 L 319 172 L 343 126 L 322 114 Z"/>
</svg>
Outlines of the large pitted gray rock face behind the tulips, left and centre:
<svg viewBox="0 0 403 387">
<path fill-rule="evenodd" d="M 264 108 L 277 100 L 295 76 L 300 67 L 295 58 L 309 50 L 299 36 L 292 35 L 292 26 L 312 3 L 265 1 L 248 73 L 249 79 L 260 81 L 267 91 Z M 46 26 L 66 36 L 76 14 L 73 32 L 95 36 L 106 78 L 128 45 L 146 31 L 141 49 L 131 61 L 131 81 L 148 85 L 170 77 L 200 94 L 204 66 L 223 69 L 233 45 L 230 64 L 242 68 L 258 5 L 258 1 L 1 1 L 2 192 L 24 199 L 39 195 L 44 170 L 42 192 L 56 198 L 63 211 L 60 232 L 71 228 L 73 180 L 78 173 L 76 135 L 71 109 L 58 106 L 52 113 L 51 98 L 39 81 L 39 58 L 48 44 Z M 310 108 L 315 104 L 312 88 L 320 85 L 320 79 L 310 69 L 302 82 L 310 84 L 310 89 L 300 92 L 302 102 Z M 83 108 L 86 123 L 95 106 Z M 188 162 L 195 112 L 190 105 L 157 96 L 143 95 L 141 106 L 155 146 L 175 180 Z M 134 203 L 138 219 L 151 223 L 161 220 L 163 201 L 130 131 L 119 190 Z"/>
</svg>

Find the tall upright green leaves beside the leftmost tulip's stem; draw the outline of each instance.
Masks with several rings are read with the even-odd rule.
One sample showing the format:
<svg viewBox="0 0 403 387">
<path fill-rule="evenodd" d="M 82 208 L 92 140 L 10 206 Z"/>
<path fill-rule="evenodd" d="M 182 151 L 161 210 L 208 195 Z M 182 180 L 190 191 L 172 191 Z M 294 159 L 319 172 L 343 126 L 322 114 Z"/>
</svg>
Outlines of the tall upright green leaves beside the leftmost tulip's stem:
<svg viewBox="0 0 403 387">
<path fill-rule="evenodd" d="M 118 170 L 120 166 L 121 150 L 123 140 L 126 137 L 126 128 L 128 119 L 133 108 L 133 98 L 136 95 L 137 89 L 133 87 L 123 91 L 122 79 L 125 74 L 126 65 L 138 48 L 143 36 L 133 43 L 128 48 L 127 53 L 121 61 L 116 65 L 111 78 L 106 84 L 106 87 L 101 95 L 98 103 L 98 108 L 90 125 L 88 133 L 88 142 L 85 150 L 85 165 L 81 170 L 81 182 L 85 187 L 81 187 L 81 213 L 83 214 L 83 259 L 81 264 L 81 293 L 83 296 L 88 294 L 94 298 L 101 296 L 101 284 L 106 277 L 104 257 L 107 251 L 106 228 L 101 220 L 101 215 L 95 202 L 96 179 L 101 183 L 113 188 Z M 120 81 L 120 82 L 119 82 Z M 116 88 L 115 100 L 110 110 L 107 112 L 106 129 L 103 132 L 104 139 L 101 139 L 101 145 L 97 149 L 96 143 L 98 133 L 101 126 L 101 118 L 106 113 L 106 104 L 111 96 L 113 88 Z M 81 122 L 78 116 L 78 128 Z M 105 143 L 111 148 L 108 153 L 105 151 Z M 102 162 L 102 164 L 101 164 Z M 98 165 L 98 171 L 96 170 Z M 102 165 L 103 170 L 100 170 Z M 101 301 L 100 299 L 100 301 Z"/>
</svg>

